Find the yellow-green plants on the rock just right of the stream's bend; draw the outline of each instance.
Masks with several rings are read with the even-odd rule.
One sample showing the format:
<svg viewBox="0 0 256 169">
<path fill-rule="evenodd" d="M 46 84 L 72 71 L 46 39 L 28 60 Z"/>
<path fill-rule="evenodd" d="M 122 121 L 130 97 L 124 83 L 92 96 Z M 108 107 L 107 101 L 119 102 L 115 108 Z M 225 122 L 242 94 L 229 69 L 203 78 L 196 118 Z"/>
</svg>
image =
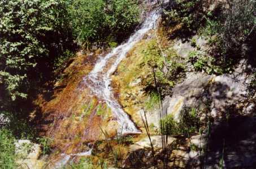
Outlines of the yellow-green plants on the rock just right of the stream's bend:
<svg viewBox="0 0 256 169">
<path fill-rule="evenodd" d="M 162 47 L 155 39 L 147 44 L 146 50 L 142 51 L 142 54 L 144 55 L 145 63 L 152 70 L 150 77 L 146 79 L 147 87 L 160 87 L 161 91 L 163 91 L 161 95 L 170 94 L 172 87 L 184 75 L 184 60 L 177 56 L 172 48 Z M 155 80 L 157 81 L 157 86 L 154 86 Z M 159 91 L 153 90 L 151 92 Z"/>
</svg>

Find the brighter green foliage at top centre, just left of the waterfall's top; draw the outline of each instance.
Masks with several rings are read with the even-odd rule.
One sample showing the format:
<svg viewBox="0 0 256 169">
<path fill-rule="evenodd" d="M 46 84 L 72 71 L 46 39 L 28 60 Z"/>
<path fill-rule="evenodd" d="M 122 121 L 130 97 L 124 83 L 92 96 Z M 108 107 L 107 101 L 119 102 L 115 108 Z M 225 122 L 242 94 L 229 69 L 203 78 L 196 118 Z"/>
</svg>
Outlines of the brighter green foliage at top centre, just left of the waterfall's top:
<svg viewBox="0 0 256 169">
<path fill-rule="evenodd" d="M 93 42 L 122 41 L 139 21 L 138 5 L 132 0 L 76 0 L 69 12 L 73 33 L 86 47 Z"/>
</svg>

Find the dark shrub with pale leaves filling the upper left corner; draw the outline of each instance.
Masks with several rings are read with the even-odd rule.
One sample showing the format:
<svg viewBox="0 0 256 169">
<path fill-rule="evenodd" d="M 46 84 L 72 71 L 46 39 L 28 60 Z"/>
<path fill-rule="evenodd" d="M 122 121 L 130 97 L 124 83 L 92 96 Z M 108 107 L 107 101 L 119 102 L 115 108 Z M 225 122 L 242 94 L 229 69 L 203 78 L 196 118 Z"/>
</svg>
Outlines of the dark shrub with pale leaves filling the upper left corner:
<svg viewBox="0 0 256 169">
<path fill-rule="evenodd" d="M 26 98 L 31 78 L 38 81 L 41 69 L 62 52 L 68 41 L 65 8 L 63 1 L 0 2 L 0 86 L 6 99 Z"/>
</svg>

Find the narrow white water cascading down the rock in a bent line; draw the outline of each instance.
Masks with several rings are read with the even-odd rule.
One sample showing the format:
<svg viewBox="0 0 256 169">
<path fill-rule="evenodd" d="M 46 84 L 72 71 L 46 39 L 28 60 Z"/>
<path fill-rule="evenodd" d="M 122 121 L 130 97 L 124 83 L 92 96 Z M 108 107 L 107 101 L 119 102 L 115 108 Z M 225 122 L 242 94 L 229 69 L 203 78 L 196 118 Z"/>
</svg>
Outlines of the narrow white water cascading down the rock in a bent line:
<svg viewBox="0 0 256 169">
<path fill-rule="evenodd" d="M 90 88 L 93 94 L 99 99 L 104 100 L 111 108 L 115 118 L 119 122 L 120 126 L 122 126 L 122 134 L 136 134 L 140 133 L 140 131 L 136 128 L 129 116 L 124 112 L 118 101 L 115 100 L 114 95 L 112 94 L 110 76 L 115 72 L 120 61 L 125 58 L 127 52 L 131 50 L 132 47 L 139 42 L 150 29 L 155 28 L 158 18 L 159 10 L 151 11 L 146 17 L 144 23 L 141 25 L 141 28 L 138 29 L 126 43 L 114 48 L 105 57 L 100 57 L 92 72 L 90 72 L 89 75 L 84 78 L 85 84 Z M 114 63 L 110 66 L 110 68 L 106 68 L 107 64 L 112 58 L 115 58 Z"/>
</svg>

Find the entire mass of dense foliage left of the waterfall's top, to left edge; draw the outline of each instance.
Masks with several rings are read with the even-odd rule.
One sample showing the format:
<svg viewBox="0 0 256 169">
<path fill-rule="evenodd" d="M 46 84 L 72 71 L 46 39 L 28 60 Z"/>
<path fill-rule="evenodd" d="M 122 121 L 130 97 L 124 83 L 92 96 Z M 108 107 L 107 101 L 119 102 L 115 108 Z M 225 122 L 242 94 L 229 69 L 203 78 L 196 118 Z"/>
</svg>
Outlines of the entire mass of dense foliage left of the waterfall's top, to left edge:
<svg viewBox="0 0 256 169">
<path fill-rule="evenodd" d="M 132 0 L 1 1 L 2 105 L 27 98 L 65 65 L 73 56 L 72 39 L 86 47 L 94 42 L 113 46 L 132 32 L 138 14 Z"/>
</svg>

